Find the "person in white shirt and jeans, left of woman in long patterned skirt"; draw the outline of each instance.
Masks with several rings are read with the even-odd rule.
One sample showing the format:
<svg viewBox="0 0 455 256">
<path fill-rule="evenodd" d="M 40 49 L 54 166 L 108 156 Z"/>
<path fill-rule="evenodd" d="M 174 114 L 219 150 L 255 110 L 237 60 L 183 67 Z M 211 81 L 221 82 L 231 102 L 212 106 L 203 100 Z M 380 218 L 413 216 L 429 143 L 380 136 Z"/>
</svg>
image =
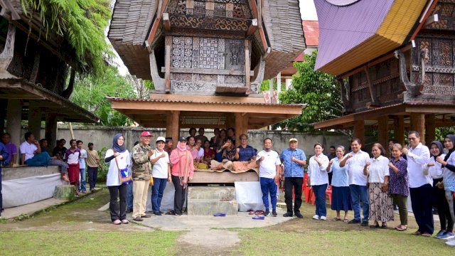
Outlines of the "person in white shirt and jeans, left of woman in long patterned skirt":
<svg viewBox="0 0 455 256">
<path fill-rule="evenodd" d="M 368 215 L 370 214 L 370 200 L 367 188 L 367 176 L 363 174 L 363 167 L 370 161 L 370 155 L 360 150 L 362 144 L 360 139 L 353 139 L 350 142 L 352 152 L 347 154 L 340 162 L 340 167 L 348 164 L 348 181 L 350 189 L 350 198 L 353 201 L 354 219 L 349 224 L 362 223 L 362 226 L 368 226 Z M 360 201 L 363 203 L 363 219 L 360 218 Z"/>
</svg>

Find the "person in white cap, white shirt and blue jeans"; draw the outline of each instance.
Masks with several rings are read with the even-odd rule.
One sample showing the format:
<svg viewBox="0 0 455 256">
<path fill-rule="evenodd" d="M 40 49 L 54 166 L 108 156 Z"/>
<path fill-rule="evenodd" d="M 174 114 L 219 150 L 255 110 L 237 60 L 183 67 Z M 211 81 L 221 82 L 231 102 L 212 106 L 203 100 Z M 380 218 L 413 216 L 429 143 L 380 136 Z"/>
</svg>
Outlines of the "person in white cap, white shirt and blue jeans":
<svg viewBox="0 0 455 256">
<path fill-rule="evenodd" d="M 151 188 L 151 208 L 154 215 L 161 216 L 163 212 L 161 208 L 161 199 L 163 199 L 166 183 L 171 182 L 171 166 L 169 165 L 169 155 L 164 150 L 166 139 L 158 137 L 156 139 L 156 150 L 150 156 L 151 164 L 154 165 L 151 176 L 154 179 L 154 186 Z"/>
</svg>

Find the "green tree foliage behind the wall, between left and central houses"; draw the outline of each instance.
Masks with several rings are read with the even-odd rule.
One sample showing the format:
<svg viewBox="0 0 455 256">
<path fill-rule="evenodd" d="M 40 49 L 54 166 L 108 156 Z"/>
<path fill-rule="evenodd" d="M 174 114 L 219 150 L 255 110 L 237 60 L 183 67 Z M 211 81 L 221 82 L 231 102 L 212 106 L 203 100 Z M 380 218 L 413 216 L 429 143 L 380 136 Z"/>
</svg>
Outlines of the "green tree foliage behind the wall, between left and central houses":
<svg viewBox="0 0 455 256">
<path fill-rule="evenodd" d="M 132 120 L 112 110 L 106 97 L 137 97 L 134 85 L 119 74 L 117 68 L 109 66 L 105 75 L 78 76 L 70 100 L 101 118 L 99 125 L 122 126 L 132 124 Z"/>
</svg>

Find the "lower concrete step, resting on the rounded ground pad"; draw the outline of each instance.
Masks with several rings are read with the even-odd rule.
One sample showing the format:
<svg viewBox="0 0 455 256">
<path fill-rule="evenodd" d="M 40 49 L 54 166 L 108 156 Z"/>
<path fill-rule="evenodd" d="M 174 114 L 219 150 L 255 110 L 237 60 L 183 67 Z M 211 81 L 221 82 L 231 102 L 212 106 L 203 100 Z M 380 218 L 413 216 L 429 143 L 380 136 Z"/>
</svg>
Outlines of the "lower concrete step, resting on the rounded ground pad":
<svg viewBox="0 0 455 256">
<path fill-rule="evenodd" d="M 220 199 L 188 199 L 188 215 L 213 215 L 226 213 L 237 215 L 237 201 L 220 201 Z M 223 218 L 223 217 L 221 217 Z"/>
</svg>

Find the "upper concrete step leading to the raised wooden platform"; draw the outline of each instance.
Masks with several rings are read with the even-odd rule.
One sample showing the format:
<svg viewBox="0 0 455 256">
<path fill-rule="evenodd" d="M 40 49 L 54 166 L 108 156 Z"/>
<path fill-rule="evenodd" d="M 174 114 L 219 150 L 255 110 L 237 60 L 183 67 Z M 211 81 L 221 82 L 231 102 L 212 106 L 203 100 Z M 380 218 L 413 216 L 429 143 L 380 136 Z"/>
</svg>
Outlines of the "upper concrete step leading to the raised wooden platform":
<svg viewBox="0 0 455 256">
<path fill-rule="evenodd" d="M 217 199 L 220 201 L 235 200 L 235 187 L 233 186 L 188 186 L 188 200 L 191 199 Z"/>
</svg>

